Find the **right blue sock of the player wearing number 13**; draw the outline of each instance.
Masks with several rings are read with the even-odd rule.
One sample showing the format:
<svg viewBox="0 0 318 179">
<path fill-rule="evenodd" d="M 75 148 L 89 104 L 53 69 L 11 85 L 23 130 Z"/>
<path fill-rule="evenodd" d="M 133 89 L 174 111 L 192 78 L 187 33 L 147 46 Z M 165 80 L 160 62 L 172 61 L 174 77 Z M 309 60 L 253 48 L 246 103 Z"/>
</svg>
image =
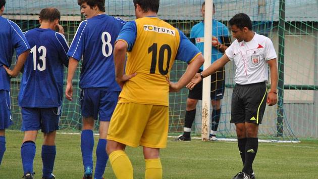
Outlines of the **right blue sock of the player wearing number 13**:
<svg viewBox="0 0 318 179">
<path fill-rule="evenodd" d="M 53 167 L 54 167 L 54 161 L 55 161 L 55 155 L 57 153 L 55 146 L 42 146 L 42 163 L 43 163 L 43 178 L 51 178 Z"/>
</svg>

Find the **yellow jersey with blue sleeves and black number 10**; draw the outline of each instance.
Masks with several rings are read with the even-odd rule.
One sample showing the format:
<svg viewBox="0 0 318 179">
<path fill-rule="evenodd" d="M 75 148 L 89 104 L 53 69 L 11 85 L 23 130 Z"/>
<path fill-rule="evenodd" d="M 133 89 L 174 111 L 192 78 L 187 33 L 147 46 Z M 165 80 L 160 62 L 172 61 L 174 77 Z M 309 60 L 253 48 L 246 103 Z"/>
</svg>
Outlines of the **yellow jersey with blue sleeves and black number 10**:
<svg viewBox="0 0 318 179">
<path fill-rule="evenodd" d="M 137 73 L 124 83 L 119 103 L 169 106 L 167 79 L 176 57 L 190 63 L 200 54 L 181 31 L 157 17 L 128 22 L 117 40 L 128 44 L 125 74 Z"/>
</svg>

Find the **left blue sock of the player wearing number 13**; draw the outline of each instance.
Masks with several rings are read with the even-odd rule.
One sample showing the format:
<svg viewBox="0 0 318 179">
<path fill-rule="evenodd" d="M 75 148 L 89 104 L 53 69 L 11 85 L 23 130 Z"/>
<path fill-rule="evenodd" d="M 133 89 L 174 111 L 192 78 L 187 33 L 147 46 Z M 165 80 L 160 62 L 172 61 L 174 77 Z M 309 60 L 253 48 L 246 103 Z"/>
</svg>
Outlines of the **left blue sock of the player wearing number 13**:
<svg viewBox="0 0 318 179">
<path fill-rule="evenodd" d="M 35 143 L 32 141 L 24 142 L 21 146 L 21 158 L 24 174 L 28 172 L 33 173 L 35 149 Z"/>
</svg>

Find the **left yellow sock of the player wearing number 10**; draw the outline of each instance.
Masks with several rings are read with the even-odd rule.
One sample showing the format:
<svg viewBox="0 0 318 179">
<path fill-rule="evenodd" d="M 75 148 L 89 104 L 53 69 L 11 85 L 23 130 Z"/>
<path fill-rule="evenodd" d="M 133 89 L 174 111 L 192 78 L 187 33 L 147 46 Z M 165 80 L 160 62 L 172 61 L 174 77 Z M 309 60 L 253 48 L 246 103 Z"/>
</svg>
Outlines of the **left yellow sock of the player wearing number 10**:
<svg viewBox="0 0 318 179">
<path fill-rule="evenodd" d="M 127 154 L 122 150 L 116 150 L 110 154 L 113 171 L 118 179 L 133 179 L 134 170 Z"/>
</svg>

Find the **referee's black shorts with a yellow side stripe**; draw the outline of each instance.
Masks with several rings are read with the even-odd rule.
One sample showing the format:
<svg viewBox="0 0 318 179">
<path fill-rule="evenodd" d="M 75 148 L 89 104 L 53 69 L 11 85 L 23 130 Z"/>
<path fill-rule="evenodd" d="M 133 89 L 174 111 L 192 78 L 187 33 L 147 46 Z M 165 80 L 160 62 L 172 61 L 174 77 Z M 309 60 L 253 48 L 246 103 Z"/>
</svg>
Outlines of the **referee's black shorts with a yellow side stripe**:
<svg viewBox="0 0 318 179">
<path fill-rule="evenodd" d="M 265 82 L 235 84 L 232 94 L 231 123 L 261 124 L 267 100 Z"/>
</svg>

